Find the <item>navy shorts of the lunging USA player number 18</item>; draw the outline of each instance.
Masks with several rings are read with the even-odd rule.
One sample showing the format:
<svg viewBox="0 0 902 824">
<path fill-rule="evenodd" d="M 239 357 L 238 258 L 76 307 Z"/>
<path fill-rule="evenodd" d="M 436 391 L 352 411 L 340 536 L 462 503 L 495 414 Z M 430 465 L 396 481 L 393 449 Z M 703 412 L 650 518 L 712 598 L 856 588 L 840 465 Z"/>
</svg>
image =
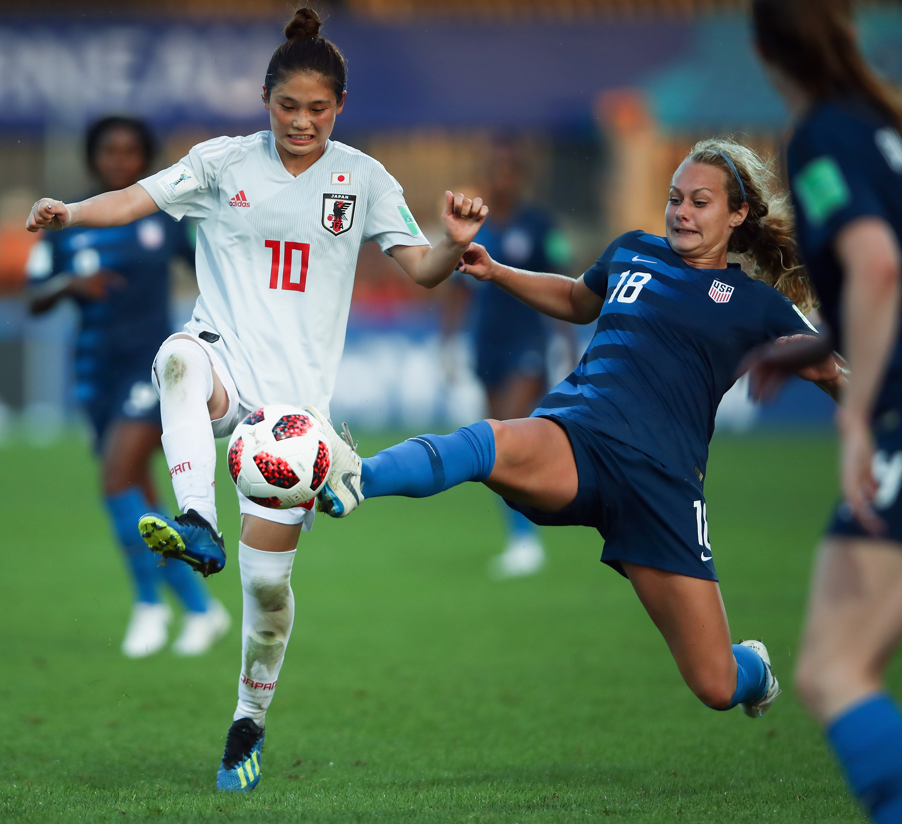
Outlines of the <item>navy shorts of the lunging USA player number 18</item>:
<svg viewBox="0 0 902 824">
<path fill-rule="evenodd" d="M 575 420 L 543 415 L 570 440 L 579 490 L 568 507 L 542 512 L 508 500 L 542 526 L 594 526 L 604 538 L 603 563 L 621 562 L 717 581 L 708 539 L 702 481 L 668 468 L 632 446 Z"/>
</svg>

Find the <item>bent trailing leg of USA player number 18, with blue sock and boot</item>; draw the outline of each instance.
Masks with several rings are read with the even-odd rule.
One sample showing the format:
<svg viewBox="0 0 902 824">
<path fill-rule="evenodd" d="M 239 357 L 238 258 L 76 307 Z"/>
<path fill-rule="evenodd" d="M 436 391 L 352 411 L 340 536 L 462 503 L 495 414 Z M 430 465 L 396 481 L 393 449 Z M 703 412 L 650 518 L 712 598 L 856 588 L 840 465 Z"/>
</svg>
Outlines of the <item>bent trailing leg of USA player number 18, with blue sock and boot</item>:
<svg viewBox="0 0 902 824">
<path fill-rule="evenodd" d="M 683 680 L 704 704 L 713 710 L 741 704 L 752 717 L 769 709 L 779 686 L 768 651 L 759 641 L 732 644 L 717 581 L 622 565 Z"/>
</svg>

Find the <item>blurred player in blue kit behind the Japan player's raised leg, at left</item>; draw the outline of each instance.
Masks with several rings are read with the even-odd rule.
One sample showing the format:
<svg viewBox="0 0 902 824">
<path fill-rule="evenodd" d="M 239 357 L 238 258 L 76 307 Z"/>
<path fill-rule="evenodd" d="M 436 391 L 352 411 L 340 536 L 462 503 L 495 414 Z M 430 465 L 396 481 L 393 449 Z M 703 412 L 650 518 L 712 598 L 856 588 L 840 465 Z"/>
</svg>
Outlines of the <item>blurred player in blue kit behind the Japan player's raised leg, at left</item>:
<svg viewBox="0 0 902 824">
<path fill-rule="evenodd" d="M 152 135 L 140 121 L 107 117 L 87 132 L 87 163 L 103 191 L 132 186 L 152 154 Z M 151 472 L 160 401 L 149 374 L 171 332 L 169 266 L 176 257 L 194 261 L 185 226 L 152 215 L 124 226 L 47 233 L 29 261 L 32 312 L 46 312 L 61 298 L 73 298 L 80 310 L 76 388 L 94 428 L 106 508 L 132 572 L 135 601 L 122 651 L 133 658 L 167 643 L 171 611 L 161 599 L 162 582 L 186 610 L 175 653 L 199 655 L 229 626 L 226 610 L 189 566 L 174 559 L 158 566 L 136 526 L 160 506 Z"/>
</svg>

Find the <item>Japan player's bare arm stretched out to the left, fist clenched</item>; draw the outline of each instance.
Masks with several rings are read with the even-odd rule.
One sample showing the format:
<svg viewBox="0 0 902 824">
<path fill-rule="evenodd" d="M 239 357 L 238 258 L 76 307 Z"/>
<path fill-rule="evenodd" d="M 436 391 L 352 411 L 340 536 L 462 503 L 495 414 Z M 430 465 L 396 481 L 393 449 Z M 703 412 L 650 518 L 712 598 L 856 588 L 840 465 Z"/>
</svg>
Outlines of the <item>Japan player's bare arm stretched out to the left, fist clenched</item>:
<svg viewBox="0 0 902 824">
<path fill-rule="evenodd" d="M 89 197 L 80 203 L 65 204 L 51 197 L 41 197 L 32 214 L 25 221 L 29 232 L 41 229 L 55 231 L 69 226 L 123 226 L 141 217 L 159 212 L 160 207 L 153 202 L 147 190 L 140 183 L 115 192 L 104 192 L 97 197 Z"/>
</svg>

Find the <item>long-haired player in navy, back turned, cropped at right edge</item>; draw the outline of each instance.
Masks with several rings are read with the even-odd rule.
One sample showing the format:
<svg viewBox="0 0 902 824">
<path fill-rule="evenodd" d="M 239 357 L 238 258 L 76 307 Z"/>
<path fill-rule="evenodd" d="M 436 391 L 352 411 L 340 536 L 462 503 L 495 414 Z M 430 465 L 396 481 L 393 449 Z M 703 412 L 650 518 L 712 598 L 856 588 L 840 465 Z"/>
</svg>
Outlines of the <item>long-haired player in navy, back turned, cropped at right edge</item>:
<svg viewBox="0 0 902 824">
<path fill-rule="evenodd" d="M 852 790 L 889 824 L 902 821 L 902 715 L 883 682 L 902 636 L 902 102 L 861 57 L 850 0 L 752 9 L 795 120 L 799 245 L 850 367 L 837 417 L 843 499 L 815 563 L 796 688 Z M 766 387 L 769 369 L 821 353 L 810 340 L 771 347 L 752 377 Z"/>
</svg>

